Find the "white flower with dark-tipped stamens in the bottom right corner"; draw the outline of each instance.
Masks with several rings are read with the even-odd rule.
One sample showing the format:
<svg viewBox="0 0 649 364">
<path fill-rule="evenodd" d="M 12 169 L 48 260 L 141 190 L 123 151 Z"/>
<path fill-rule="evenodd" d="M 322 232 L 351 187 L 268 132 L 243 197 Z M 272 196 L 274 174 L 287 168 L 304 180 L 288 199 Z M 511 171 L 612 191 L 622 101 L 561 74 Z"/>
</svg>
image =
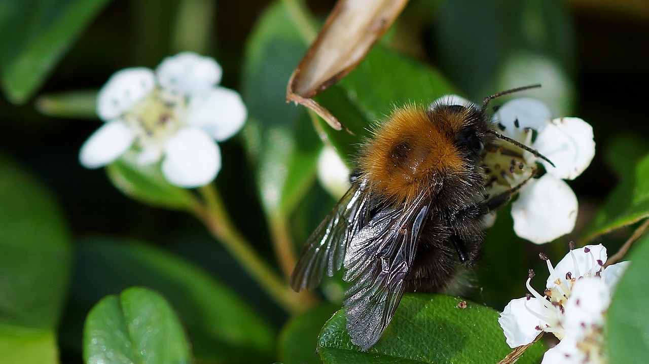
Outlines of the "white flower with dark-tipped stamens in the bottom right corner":
<svg viewBox="0 0 649 364">
<path fill-rule="evenodd" d="M 546 352 L 543 363 L 603 361 L 604 314 L 628 262 L 603 268 L 602 245 L 570 250 L 556 267 L 541 258 L 550 273 L 543 296 L 530 285 L 530 274 L 530 295 L 511 300 L 498 318 L 508 345 L 527 345 L 541 332 L 551 332 L 561 342 Z"/>
</svg>

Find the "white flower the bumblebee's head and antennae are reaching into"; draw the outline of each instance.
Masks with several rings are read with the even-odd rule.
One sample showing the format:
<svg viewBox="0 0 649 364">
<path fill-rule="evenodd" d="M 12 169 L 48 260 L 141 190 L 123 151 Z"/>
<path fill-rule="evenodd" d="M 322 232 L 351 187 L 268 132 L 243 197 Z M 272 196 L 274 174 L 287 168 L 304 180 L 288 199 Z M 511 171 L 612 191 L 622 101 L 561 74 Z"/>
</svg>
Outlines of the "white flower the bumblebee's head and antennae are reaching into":
<svg viewBox="0 0 649 364">
<path fill-rule="evenodd" d="M 563 180 L 576 178 L 593 160 L 593 128 L 577 117 L 552 119 L 550 109 L 545 104 L 526 98 L 503 104 L 494 119 L 503 135 L 531 147 L 554 164 L 506 145 L 505 141 L 501 141 L 500 145 L 509 150 L 518 149 L 522 158 L 498 152 L 485 157 L 487 165 L 492 168 L 495 165 L 509 167 L 507 161 L 510 160 L 512 165 L 520 165 L 520 168 L 497 171 L 499 178 L 506 175 L 500 182 L 504 180 L 509 188 L 518 186 L 532 176 L 537 163 L 545 168 L 545 175 L 528 180 L 520 188 L 519 198 L 511 206 L 516 234 L 537 244 L 568 234 L 577 219 L 578 202 L 570 186 Z M 531 169 L 525 170 L 522 166 Z"/>
</svg>

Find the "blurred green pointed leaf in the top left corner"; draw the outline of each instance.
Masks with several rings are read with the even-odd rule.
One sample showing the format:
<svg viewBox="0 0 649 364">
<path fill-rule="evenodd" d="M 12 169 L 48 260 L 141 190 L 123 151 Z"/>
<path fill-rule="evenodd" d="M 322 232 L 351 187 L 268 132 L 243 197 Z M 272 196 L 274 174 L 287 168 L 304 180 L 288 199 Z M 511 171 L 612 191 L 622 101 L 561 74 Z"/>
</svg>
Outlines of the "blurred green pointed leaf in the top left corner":
<svg viewBox="0 0 649 364">
<path fill-rule="evenodd" d="M 109 0 L 10 0 L 0 3 L 0 85 L 25 103 Z"/>
</svg>

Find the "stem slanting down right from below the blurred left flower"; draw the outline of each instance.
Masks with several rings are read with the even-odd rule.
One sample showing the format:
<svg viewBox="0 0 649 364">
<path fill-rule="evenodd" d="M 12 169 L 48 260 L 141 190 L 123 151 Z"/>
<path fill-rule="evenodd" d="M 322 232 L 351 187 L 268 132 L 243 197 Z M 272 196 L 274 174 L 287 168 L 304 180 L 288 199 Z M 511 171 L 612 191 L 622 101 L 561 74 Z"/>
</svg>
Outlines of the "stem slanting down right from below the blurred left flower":
<svg viewBox="0 0 649 364">
<path fill-rule="evenodd" d="M 221 241 L 230 254 L 241 263 L 243 269 L 286 311 L 295 313 L 308 308 L 310 302 L 304 300 L 302 297 L 304 293 L 295 293 L 252 249 L 245 237 L 232 224 L 214 184 L 200 188 L 199 192 L 205 205 L 199 204 L 193 212 L 204 221 L 212 235 Z"/>
</svg>

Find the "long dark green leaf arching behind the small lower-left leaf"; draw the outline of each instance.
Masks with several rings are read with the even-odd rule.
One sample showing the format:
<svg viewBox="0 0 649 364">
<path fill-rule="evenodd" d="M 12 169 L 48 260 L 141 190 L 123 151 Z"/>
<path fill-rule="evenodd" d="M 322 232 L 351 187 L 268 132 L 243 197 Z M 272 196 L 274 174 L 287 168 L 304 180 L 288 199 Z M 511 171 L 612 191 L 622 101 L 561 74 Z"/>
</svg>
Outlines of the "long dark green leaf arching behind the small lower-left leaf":
<svg viewBox="0 0 649 364">
<path fill-rule="evenodd" d="M 71 302 L 87 311 L 101 297 L 134 285 L 162 293 L 176 309 L 199 361 L 262 362 L 273 351 L 269 325 L 228 287 L 185 260 L 124 239 L 77 247 Z"/>
</svg>

